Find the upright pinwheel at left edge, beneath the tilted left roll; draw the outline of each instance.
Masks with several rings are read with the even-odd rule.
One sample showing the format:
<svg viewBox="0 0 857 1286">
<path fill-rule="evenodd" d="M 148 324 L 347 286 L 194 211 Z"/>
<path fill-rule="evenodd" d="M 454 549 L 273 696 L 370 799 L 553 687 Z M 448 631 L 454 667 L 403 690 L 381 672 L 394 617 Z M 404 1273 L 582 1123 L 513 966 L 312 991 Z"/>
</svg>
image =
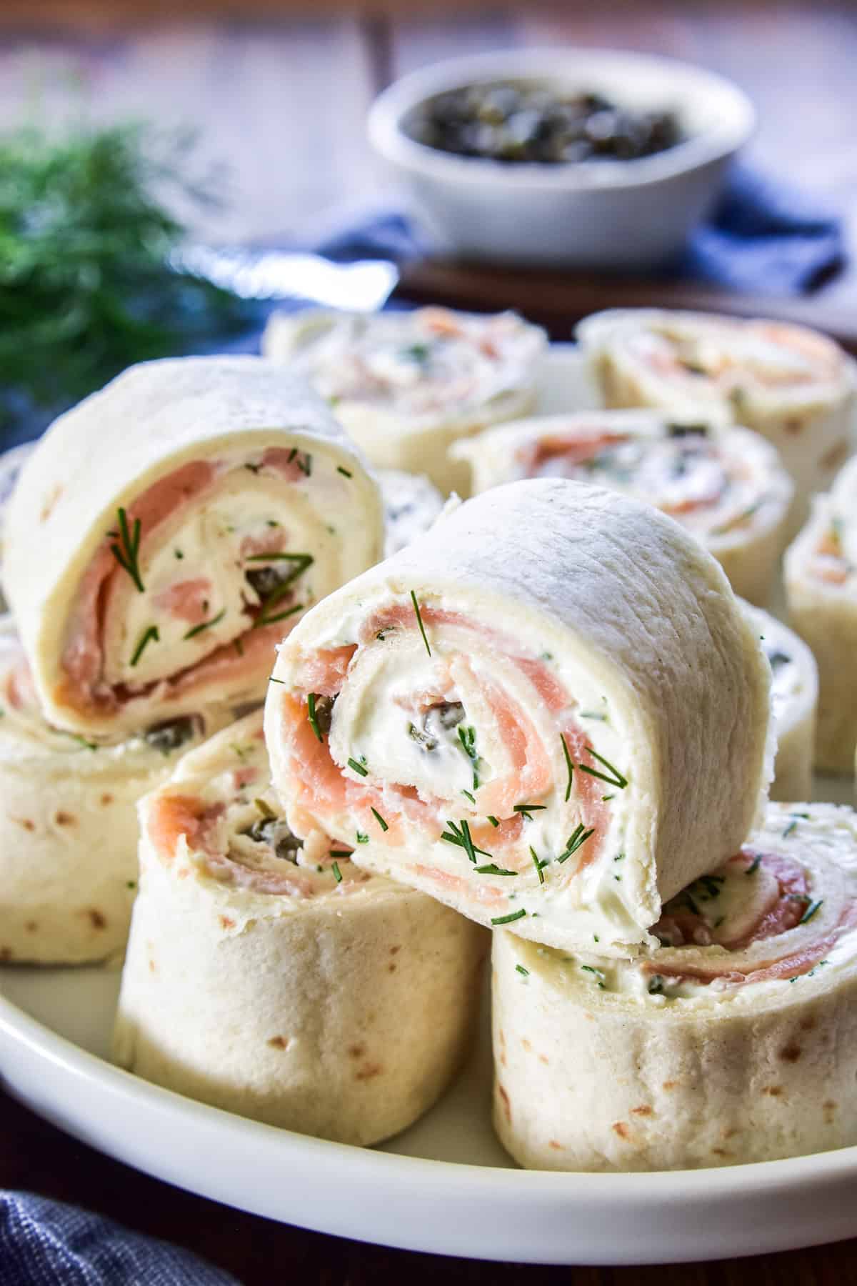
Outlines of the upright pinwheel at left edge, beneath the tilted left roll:
<svg viewBox="0 0 857 1286">
<path fill-rule="evenodd" d="M 84 964 L 125 946 L 137 877 L 136 802 L 217 727 L 186 715 L 96 746 L 42 718 L 0 617 L 0 961 Z"/>
</svg>

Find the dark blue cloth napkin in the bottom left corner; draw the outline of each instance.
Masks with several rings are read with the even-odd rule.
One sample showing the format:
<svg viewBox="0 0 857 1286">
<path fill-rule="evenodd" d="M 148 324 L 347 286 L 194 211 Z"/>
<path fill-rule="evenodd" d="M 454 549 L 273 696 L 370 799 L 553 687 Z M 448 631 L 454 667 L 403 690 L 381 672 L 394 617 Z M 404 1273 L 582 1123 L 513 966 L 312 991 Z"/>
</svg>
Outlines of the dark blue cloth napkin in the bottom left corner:
<svg viewBox="0 0 857 1286">
<path fill-rule="evenodd" d="M 0 1192 L 3 1286 L 238 1286 L 188 1250 L 28 1192 Z"/>
</svg>

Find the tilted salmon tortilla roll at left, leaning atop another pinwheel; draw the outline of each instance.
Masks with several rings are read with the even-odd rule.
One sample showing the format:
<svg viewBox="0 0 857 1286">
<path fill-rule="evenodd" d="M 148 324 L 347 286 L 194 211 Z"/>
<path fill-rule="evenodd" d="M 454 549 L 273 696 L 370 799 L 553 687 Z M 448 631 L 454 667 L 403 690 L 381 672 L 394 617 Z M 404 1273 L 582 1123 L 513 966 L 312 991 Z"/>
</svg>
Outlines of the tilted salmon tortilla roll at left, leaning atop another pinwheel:
<svg viewBox="0 0 857 1286">
<path fill-rule="evenodd" d="M 376 484 L 307 386 L 184 358 L 132 367 L 41 439 L 4 585 L 51 723 L 121 739 L 261 700 L 274 644 L 382 539 Z"/>
</svg>

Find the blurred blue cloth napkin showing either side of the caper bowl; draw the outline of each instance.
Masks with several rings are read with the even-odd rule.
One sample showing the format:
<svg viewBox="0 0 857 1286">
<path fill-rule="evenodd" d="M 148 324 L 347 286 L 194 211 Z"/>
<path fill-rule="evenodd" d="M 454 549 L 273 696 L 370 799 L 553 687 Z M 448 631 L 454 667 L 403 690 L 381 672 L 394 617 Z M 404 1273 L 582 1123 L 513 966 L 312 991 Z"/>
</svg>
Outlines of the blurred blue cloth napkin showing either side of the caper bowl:
<svg viewBox="0 0 857 1286">
<path fill-rule="evenodd" d="M 312 248 L 339 260 L 430 253 L 396 210 L 346 222 Z M 735 166 L 709 219 L 659 275 L 712 282 L 748 294 L 802 294 L 831 276 L 844 260 L 842 221 L 817 197 Z"/>
</svg>

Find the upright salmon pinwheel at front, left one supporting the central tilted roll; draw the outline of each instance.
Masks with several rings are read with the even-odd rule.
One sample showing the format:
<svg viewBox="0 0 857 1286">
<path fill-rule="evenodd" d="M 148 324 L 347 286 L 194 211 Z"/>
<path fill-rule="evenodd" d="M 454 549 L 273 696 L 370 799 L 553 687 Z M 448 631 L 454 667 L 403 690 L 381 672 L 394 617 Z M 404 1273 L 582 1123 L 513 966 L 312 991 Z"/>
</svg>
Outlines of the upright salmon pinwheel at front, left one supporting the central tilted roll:
<svg viewBox="0 0 857 1286">
<path fill-rule="evenodd" d="M 358 871 L 321 832 L 301 846 L 270 790 L 261 711 L 188 755 L 140 823 L 118 1062 L 342 1143 L 432 1106 L 468 1044 L 484 931 Z"/>
</svg>

